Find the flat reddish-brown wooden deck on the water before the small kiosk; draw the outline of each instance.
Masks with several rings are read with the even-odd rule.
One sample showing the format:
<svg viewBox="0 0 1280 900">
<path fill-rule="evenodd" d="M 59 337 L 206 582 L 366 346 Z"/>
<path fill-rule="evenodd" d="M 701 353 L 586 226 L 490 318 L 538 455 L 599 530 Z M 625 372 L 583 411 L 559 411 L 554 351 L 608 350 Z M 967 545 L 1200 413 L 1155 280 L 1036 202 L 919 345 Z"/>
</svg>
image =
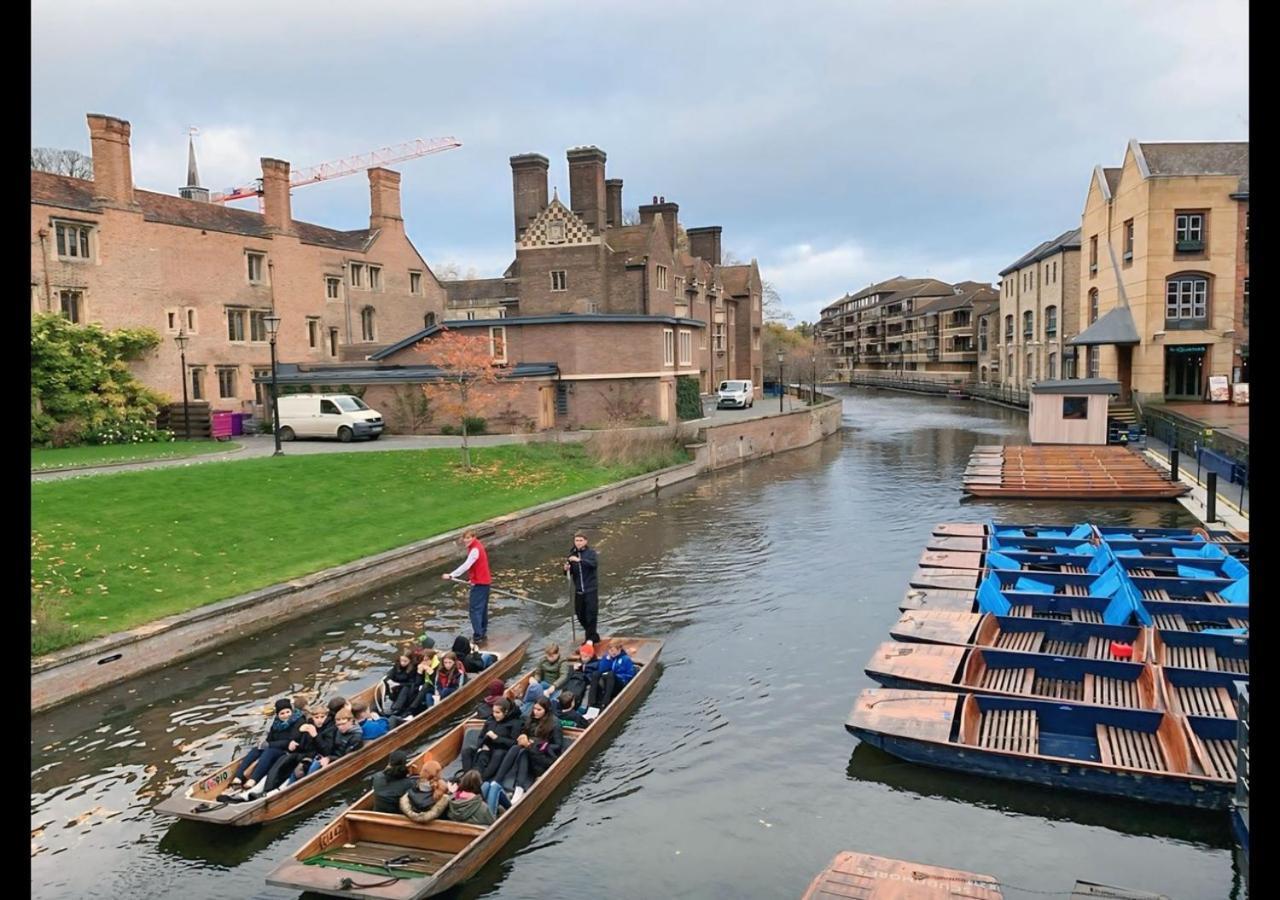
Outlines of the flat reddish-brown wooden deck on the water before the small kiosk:
<svg viewBox="0 0 1280 900">
<path fill-rule="evenodd" d="M 1190 490 L 1125 447 L 1070 444 L 975 447 L 964 489 L 1041 499 L 1174 499 Z"/>
</svg>

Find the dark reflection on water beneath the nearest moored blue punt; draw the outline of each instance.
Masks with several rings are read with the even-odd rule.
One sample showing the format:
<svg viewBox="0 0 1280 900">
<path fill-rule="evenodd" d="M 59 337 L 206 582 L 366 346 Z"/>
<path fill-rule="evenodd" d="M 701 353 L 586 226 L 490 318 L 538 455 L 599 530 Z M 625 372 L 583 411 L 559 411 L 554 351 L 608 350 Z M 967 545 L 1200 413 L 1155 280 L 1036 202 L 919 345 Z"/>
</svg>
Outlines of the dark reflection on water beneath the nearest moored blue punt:
<svg viewBox="0 0 1280 900">
<path fill-rule="evenodd" d="M 854 748 L 846 775 L 851 781 L 874 781 L 896 791 L 1055 822 L 1110 828 L 1139 837 L 1167 837 L 1215 850 L 1228 849 L 1233 844 L 1230 824 L 1217 810 L 1172 809 L 1137 800 L 947 772 L 905 762 L 869 744 L 859 743 Z"/>
</svg>

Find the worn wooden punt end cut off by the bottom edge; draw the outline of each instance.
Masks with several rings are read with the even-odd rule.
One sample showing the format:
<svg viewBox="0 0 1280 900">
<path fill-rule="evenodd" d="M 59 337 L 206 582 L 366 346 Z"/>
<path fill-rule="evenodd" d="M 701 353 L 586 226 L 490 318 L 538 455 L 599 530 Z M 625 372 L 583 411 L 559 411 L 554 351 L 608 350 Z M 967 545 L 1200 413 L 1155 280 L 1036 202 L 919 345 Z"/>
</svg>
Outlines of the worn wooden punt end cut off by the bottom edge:
<svg viewBox="0 0 1280 900">
<path fill-rule="evenodd" d="M 989 874 L 909 863 L 846 850 L 809 883 L 800 900 L 1004 900 Z"/>
</svg>

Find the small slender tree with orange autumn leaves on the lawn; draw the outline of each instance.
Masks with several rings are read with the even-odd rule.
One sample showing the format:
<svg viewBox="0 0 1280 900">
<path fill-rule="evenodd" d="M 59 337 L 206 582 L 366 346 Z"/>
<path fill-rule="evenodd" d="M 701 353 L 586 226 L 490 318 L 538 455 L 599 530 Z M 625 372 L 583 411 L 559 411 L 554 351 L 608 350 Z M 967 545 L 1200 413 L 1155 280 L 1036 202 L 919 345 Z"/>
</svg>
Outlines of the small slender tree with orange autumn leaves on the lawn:
<svg viewBox="0 0 1280 900">
<path fill-rule="evenodd" d="M 493 361 L 495 351 L 499 358 L 506 357 L 506 348 L 490 347 L 486 334 L 462 334 L 442 328 L 436 335 L 419 342 L 415 350 L 443 371 L 438 382 L 422 385 L 422 393 L 434 410 L 461 421 L 462 466 L 470 472 L 467 419 L 480 416 L 508 394 L 511 383 L 502 380 L 502 369 Z"/>
</svg>

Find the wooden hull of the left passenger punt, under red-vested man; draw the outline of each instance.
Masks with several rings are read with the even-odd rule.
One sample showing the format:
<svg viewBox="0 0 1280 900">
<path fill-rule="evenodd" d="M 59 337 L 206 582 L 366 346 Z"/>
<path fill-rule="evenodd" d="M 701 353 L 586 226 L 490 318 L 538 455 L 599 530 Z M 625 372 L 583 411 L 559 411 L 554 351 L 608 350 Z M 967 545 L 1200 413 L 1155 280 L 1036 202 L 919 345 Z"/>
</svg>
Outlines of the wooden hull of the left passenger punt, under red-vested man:
<svg viewBox="0 0 1280 900">
<path fill-rule="evenodd" d="M 236 767 L 244 758 L 239 755 L 212 775 L 201 777 L 177 791 L 156 807 L 156 812 L 196 822 L 237 826 L 270 822 L 271 819 L 287 816 L 338 785 L 349 781 L 370 766 L 383 762 L 393 750 L 412 744 L 442 722 L 461 712 L 470 712 L 490 681 L 494 679 L 506 680 L 516 671 L 521 658 L 525 655 L 525 650 L 529 649 L 531 639 L 532 635 L 527 631 L 512 635 L 492 635 L 484 647 L 484 652 L 495 654 L 498 659 L 489 668 L 477 672 L 462 687 L 425 713 L 415 716 L 381 737 L 367 741 L 356 753 L 335 759 L 319 772 L 308 775 L 305 778 L 298 778 L 298 781 L 288 787 L 247 803 L 219 800 L 218 795 L 228 790 Z M 372 704 L 376 690 L 378 682 L 353 694 L 348 699 Z"/>
</svg>

